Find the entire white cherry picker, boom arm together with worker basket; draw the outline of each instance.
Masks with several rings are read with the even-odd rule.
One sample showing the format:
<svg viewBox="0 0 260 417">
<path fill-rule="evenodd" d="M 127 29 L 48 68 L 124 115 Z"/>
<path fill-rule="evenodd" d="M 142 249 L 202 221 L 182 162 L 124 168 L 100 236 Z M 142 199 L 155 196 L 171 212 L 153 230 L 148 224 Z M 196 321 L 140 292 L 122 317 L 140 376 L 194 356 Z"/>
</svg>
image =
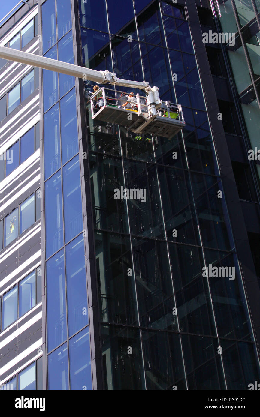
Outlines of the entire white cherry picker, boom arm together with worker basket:
<svg viewBox="0 0 260 417">
<path fill-rule="evenodd" d="M 185 121 L 180 105 L 162 102 L 159 97 L 159 88 L 151 87 L 144 81 L 123 80 L 116 77 L 115 73 L 96 71 L 78 65 L 45 58 L 43 56 L 0 46 L 0 58 L 31 65 L 33 67 L 72 75 L 73 77 L 90 80 L 97 84 L 120 85 L 121 87 L 144 90 L 146 97 L 136 94 L 137 110 L 121 106 L 119 98 L 109 98 L 105 88 L 102 88 L 103 101 L 95 103 L 96 93 L 91 97 L 92 118 L 117 123 L 126 126 L 135 133 L 150 133 L 153 135 L 174 136 L 184 126 Z M 106 89 L 108 90 L 108 89 Z M 99 91 L 99 90 L 98 90 Z M 109 91 L 109 94 L 116 94 L 116 90 Z M 127 100 L 127 99 L 126 99 Z M 122 101 L 122 100 L 121 100 Z M 95 104 L 94 104 L 95 103 Z M 98 108 L 95 106 L 98 105 Z M 172 107 L 171 107 L 172 106 Z M 173 110 L 173 111 L 172 111 Z M 179 120 L 177 120 L 179 119 Z"/>
</svg>

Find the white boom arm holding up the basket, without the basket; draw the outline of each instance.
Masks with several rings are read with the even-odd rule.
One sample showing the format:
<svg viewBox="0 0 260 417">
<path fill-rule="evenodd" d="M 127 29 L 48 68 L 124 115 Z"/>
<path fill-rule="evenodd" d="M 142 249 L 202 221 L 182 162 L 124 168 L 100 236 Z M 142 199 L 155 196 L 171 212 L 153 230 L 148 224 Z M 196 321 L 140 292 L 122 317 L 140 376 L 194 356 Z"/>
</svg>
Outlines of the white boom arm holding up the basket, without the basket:
<svg viewBox="0 0 260 417">
<path fill-rule="evenodd" d="M 162 104 L 159 98 L 158 87 L 151 87 L 149 83 L 146 83 L 145 81 L 131 81 L 117 78 L 116 74 L 109 72 L 109 70 L 91 70 L 89 68 L 80 67 L 78 65 L 69 64 L 51 58 L 45 58 L 44 56 L 34 55 L 32 53 L 7 48 L 5 46 L 0 46 L 0 58 L 32 65 L 33 67 L 43 68 L 45 70 L 72 75 L 73 77 L 88 79 L 98 84 L 110 83 L 111 85 L 121 85 L 122 87 L 139 88 L 140 90 L 146 91 L 148 94 L 147 103 L 149 104 L 154 115 L 157 114 L 156 106 Z"/>
</svg>

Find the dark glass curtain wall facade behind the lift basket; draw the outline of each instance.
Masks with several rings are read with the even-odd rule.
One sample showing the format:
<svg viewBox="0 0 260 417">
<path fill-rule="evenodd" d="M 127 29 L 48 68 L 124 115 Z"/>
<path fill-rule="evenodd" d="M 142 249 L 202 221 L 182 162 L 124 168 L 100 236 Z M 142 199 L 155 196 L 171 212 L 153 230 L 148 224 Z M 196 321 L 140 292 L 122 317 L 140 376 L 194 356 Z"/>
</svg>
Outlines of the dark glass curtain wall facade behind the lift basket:
<svg viewBox="0 0 260 417">
<path fill-rule="evenodd" d="M 157 85 L 186 121 L 171 140 L 137 136 L 86 102 L 104 389 L 247 389 L 255 339 L 185 10 L 78 7 L 82 65 Z M 121 187 L 145 201 L 115 199 Z M 210 264 L 234 279 L 204 276 Z"/>
</svg>

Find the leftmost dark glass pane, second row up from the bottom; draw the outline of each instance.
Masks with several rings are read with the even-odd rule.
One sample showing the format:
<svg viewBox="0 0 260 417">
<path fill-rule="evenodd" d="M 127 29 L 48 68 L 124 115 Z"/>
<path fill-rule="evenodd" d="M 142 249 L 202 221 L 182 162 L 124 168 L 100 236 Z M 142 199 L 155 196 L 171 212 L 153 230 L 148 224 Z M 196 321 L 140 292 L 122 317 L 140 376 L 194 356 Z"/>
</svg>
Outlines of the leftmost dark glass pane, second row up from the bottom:
<svg viewBox="0 0 260 417">
<path fill-rule="evenodd" d="M 101 320 L 137 325 L 129 237 L 96 232 L 95 243 Z"/>
</svg>

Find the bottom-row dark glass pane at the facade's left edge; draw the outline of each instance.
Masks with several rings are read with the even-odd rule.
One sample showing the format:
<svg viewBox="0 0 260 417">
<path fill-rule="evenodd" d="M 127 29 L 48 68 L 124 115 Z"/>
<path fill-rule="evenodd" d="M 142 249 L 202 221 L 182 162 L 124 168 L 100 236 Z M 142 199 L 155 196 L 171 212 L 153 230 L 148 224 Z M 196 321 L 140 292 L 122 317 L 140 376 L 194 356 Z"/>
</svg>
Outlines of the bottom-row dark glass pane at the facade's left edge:
<svg viewBox="0 0 260 417">
<path fill-rule="evenodd" d="M 105 389 L 144 389 L 137 329 L 101 326 Z"/>
</svg>

